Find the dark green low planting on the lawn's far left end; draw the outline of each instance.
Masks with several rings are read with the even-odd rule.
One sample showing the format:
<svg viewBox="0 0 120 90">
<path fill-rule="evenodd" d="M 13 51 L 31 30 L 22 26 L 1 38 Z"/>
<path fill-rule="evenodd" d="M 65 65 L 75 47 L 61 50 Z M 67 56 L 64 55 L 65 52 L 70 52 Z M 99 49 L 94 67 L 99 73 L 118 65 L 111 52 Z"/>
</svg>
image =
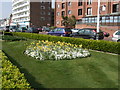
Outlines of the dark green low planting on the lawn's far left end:
<svg viewBox="0 0 120 90">
<path fill-rule="evenodd" d="M 20 41 L 20 40 L 26 40 L 26 39 L 23 38 L 23 37 L 4 35 L 4 36 L 2 36 L 2 40 L 5 40 L 5 41 Z"/>
</svg>

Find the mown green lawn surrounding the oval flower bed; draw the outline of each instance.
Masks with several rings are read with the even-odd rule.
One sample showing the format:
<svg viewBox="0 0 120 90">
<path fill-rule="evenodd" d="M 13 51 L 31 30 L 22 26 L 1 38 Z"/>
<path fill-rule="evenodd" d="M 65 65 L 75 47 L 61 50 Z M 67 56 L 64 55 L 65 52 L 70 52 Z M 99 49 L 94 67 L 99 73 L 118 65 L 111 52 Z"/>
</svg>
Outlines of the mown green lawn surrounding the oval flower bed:
<svg viewBox="0 0 120 90">
<path fill-rule="evenodd" d="M 90 51 L 91 57 L 39 61 L 23 54 L 29 41 L 2 42 L 11 62 L 34 88 L 117 88 L 118 56 Z"/>
</svg>

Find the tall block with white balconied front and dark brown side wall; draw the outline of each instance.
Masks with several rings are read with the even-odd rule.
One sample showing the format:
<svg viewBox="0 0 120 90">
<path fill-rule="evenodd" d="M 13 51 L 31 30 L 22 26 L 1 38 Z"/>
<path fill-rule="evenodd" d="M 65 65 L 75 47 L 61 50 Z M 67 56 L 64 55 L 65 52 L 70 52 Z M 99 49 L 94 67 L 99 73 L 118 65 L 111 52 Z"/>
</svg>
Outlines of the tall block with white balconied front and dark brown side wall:
<svg viewBox="0 0 120 90">
<path fill-rule="evenodd" d="M 26 26 L 51 25 L 51 0 L 12 0 L 12 23 Z"/>
</svg>

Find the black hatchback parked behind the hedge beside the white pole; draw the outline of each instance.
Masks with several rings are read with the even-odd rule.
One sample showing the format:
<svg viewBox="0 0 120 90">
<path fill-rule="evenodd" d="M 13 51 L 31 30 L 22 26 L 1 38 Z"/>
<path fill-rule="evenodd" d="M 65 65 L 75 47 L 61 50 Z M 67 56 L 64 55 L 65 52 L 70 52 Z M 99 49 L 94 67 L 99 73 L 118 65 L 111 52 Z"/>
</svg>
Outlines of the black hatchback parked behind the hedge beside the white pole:
<svg viewBox="0 0 120 90">
<path fill-rule="evenodd" d="M 97 30 L 93 28 L 80 29 L 78 32 L 73 33 L 70 36 L 77 38 L 84 38 L 84 39 L 93 39 L 93 40 L 96 40 L 98 36 L 99 40 L 104 39 L 103 31 L 99 30 L 99 33 L 97 33 Z"/>
</svg>

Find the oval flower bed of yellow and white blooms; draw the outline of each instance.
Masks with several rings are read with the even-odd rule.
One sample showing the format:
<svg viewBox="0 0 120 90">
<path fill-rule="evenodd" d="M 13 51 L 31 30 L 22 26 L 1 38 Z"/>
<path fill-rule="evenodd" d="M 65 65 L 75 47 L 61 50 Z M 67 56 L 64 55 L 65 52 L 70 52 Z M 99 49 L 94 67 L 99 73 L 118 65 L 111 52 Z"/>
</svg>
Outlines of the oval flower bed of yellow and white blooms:
<svg viewBox="0 0 120 90">
<path fill-rule="evenodd" d="M 82 45 L 47 40 L 32 42 L 27 47 L 25 54 L 39 60 L 63 60 L 90 56 L 87 50 L 82 49 Z"/>
</svg>

